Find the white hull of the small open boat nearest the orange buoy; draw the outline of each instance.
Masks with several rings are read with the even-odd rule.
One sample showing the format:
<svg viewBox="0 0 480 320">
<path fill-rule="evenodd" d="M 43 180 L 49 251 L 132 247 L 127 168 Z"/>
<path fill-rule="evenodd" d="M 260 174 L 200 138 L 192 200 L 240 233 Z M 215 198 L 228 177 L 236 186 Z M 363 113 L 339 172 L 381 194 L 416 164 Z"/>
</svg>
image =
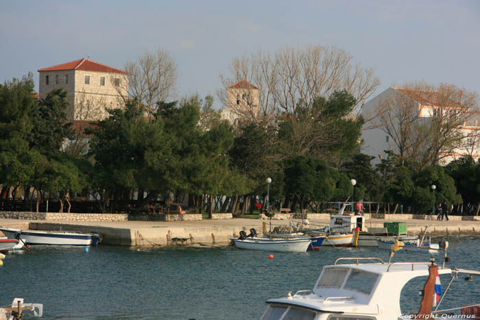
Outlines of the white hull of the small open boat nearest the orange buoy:
<svg viewBox="0 0 480 320">
<path fill-rule="evenodd" d="M 245 240 L 231 239 L 235 247 L 247 250 L 279 251 L 279 252 L 306 252 L 311 244 L 310 239 L 269 239 L 249 238 Z"/>
</svg>

